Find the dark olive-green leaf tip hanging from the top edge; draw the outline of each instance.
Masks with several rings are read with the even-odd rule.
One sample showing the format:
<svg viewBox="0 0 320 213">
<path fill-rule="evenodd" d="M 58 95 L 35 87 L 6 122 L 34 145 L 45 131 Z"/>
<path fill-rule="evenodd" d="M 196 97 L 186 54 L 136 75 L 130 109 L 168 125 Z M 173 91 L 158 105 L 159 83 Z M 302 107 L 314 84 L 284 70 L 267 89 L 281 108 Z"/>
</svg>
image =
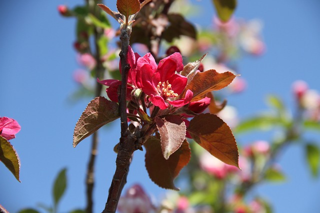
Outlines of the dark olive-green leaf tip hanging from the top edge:
<svg viewBox="0 0 320 213">
<path fill-rule="evenodd" d="M 228 21 L 236 7 L 236 0 L 213 0 L 216 13 L 221 21 Z"/>
</svg>

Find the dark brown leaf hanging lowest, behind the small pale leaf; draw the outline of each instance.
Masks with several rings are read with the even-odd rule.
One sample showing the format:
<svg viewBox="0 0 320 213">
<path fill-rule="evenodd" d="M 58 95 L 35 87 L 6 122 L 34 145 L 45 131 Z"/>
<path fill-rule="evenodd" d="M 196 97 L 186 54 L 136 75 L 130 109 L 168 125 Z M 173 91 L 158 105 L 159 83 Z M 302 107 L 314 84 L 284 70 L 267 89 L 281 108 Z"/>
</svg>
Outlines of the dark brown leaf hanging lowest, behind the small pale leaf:
<svg viewBox="0 0 320 213">
<path fill-rule="evenodd" d="M 186 140 L 168 160 L 165 160 L 161 152 L 160 139 L 150 137 L 145 143 L 145 168 L 150 179 L 164 189 L 178 190 L 173 180 L 178 176 L 181 169 L 189 163 L 190 148 Z"/>
</svg>

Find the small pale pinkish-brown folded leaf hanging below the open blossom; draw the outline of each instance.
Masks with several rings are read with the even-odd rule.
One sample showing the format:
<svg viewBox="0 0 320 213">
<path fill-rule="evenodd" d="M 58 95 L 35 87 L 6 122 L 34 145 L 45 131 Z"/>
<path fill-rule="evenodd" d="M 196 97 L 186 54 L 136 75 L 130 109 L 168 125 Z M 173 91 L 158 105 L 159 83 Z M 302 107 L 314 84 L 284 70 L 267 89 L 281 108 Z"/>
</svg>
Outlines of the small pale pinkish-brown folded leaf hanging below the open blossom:
<svg viewBox="0 0 320 213">
<path fill-rule="evenodd" d="M 162 154 L 167 160 L 185 139 L 186 126 L 179 116 L 155 117 L 155 124 L 160 133 Z"/>
</svg>

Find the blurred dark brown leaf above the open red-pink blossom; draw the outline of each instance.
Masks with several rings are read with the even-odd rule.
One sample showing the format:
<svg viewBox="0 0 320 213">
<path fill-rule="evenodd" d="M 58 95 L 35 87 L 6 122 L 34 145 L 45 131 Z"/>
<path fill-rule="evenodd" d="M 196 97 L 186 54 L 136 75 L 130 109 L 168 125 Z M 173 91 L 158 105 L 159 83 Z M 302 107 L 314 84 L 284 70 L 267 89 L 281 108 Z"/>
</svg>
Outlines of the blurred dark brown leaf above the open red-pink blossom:
<svg viewBox="0 0 320 213">
<path fill-rule="evenodd" d="M 191 38 L 196 38 L 196 31 L 194 26 L 186 21 L 180 14 L 168 14 L 168 21 L 170 25 L 162 32 L 162 37 L 172 42 L 174 38 L 179 38 L 180 35 L 185 35 Z"/>
</svg>

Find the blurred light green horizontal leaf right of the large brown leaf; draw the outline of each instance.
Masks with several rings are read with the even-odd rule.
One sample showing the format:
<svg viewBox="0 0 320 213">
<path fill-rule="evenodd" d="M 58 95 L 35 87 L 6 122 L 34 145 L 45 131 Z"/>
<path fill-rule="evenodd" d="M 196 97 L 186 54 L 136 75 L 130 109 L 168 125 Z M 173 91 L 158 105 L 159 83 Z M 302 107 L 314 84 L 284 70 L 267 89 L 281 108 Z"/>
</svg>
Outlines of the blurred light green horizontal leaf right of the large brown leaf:
<svg viewBox="0 0 320 213">
<path fill-rule="evenodd" d="M 242 133 L 256 129 L 269 130 L 279 123 L 279 117 L 274 117 L 271 115 L 261 115 L 240 122 L 233 131 L 234 133 Z"/>
</svg>

